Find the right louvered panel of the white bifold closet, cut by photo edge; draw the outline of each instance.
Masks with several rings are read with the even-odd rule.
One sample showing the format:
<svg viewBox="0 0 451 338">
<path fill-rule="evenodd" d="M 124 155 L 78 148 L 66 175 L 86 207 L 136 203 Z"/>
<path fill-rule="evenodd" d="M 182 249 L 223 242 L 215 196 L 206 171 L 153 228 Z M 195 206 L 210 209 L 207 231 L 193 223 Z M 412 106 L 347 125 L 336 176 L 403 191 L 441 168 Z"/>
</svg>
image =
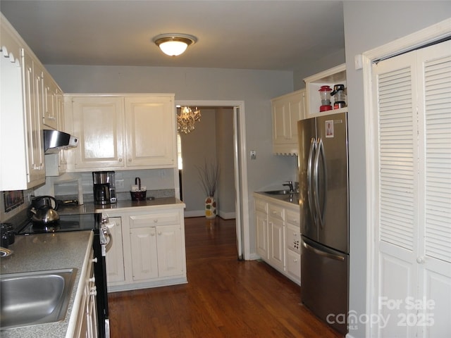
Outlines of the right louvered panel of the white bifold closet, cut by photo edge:
<svg viewBox="0 0 451 338">
<path fill-rule="evenodd" d="M 434 301 L 425 337 L 451 337 L 451 41 L 416 54 L 421 130 L 419 298 Z"/>
</svg>

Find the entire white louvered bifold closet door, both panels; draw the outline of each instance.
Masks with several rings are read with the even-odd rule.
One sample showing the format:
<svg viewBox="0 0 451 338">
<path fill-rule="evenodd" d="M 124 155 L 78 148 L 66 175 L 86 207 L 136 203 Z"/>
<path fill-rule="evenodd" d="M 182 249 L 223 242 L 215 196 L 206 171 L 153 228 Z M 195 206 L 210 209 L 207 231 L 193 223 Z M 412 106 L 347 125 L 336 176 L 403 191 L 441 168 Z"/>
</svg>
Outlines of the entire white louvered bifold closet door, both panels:
<svg viewBox="0 0 451 338">
<path fill-rule="evenodd" d="M 373 65 L 378 337 L 451 332 L 451 42 Z M 428 306 L 413 306 L 424 298 Z M 432 303 L 432 302 L 433 303 Z"/>
</svg>

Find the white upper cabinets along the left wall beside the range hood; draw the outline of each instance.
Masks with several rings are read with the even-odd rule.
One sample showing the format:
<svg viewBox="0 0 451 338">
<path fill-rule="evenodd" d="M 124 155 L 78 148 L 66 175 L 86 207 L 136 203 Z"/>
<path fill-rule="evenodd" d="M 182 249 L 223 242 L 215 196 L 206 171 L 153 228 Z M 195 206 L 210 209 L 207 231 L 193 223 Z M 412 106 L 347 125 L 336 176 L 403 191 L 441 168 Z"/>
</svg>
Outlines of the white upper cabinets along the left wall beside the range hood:
<svg viewBox="0 0 451 338">
<path fill-rule="evenodd" d="M 58 128 L 62 92 L 3 15 L 0 24 L 0 190 L 31 189 L 45 182 L 42 129 Z"/>
</svg>

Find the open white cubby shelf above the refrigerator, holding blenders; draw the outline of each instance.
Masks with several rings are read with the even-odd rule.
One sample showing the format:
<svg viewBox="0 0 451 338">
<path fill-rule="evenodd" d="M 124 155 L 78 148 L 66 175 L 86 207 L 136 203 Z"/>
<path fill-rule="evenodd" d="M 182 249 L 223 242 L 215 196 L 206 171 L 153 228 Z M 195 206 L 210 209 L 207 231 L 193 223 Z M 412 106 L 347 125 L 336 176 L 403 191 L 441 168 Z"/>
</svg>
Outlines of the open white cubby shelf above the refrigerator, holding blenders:
<svg viewBox="0 0 451 338">
<path fill-rule="evenodd" d="M 347 88 L 346 85 L 346 65 L 343 63 L 342 65 L 338 65 L 334 68 L 330 68 L 328 70 L 324 70 L 321 73 L 311 75 L 304 79 L 305 87 L 306 87 L 306 110 L 305 110 L 305 118 L 314 118 L 316 116 L 321 115 L 329 115 L 333 113 L 342 113 L 347 111 L 347 106 L 337 109 L 332 109 L 330 111 L 320 111 L 320 107 L 323 105 L 321 103 L 321 97 L 319 94 L 319 90 L 323 86 L 329 86 L 330 88 L 334 88 L 337 84 L 342 84 L 345 87 L 345 91 Z M 331 106 L 334 106 L 334 97 L 331 99 Z"/>
</svg>

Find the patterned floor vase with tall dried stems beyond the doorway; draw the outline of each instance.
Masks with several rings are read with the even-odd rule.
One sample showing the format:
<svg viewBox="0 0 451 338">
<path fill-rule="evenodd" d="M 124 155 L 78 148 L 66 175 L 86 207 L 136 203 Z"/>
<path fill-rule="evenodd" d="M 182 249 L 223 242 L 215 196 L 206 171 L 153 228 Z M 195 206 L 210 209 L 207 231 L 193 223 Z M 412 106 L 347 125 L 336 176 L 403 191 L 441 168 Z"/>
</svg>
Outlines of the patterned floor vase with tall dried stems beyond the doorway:
<svg viewBox="0 0 451 338">
<path fill-rule="evenodd" d="M 214 199 L 214 194 L 219 182 L 220 168 L 218 163 L 206 163 L 204 166 L 196 166 L 199 173 L 199 180 L 201 182 L 202 188 L 204 189 L 206 199 L 205 199 L 205 217 L 215 218 L 216 217 L 216 201 Z"/>
</svg>

